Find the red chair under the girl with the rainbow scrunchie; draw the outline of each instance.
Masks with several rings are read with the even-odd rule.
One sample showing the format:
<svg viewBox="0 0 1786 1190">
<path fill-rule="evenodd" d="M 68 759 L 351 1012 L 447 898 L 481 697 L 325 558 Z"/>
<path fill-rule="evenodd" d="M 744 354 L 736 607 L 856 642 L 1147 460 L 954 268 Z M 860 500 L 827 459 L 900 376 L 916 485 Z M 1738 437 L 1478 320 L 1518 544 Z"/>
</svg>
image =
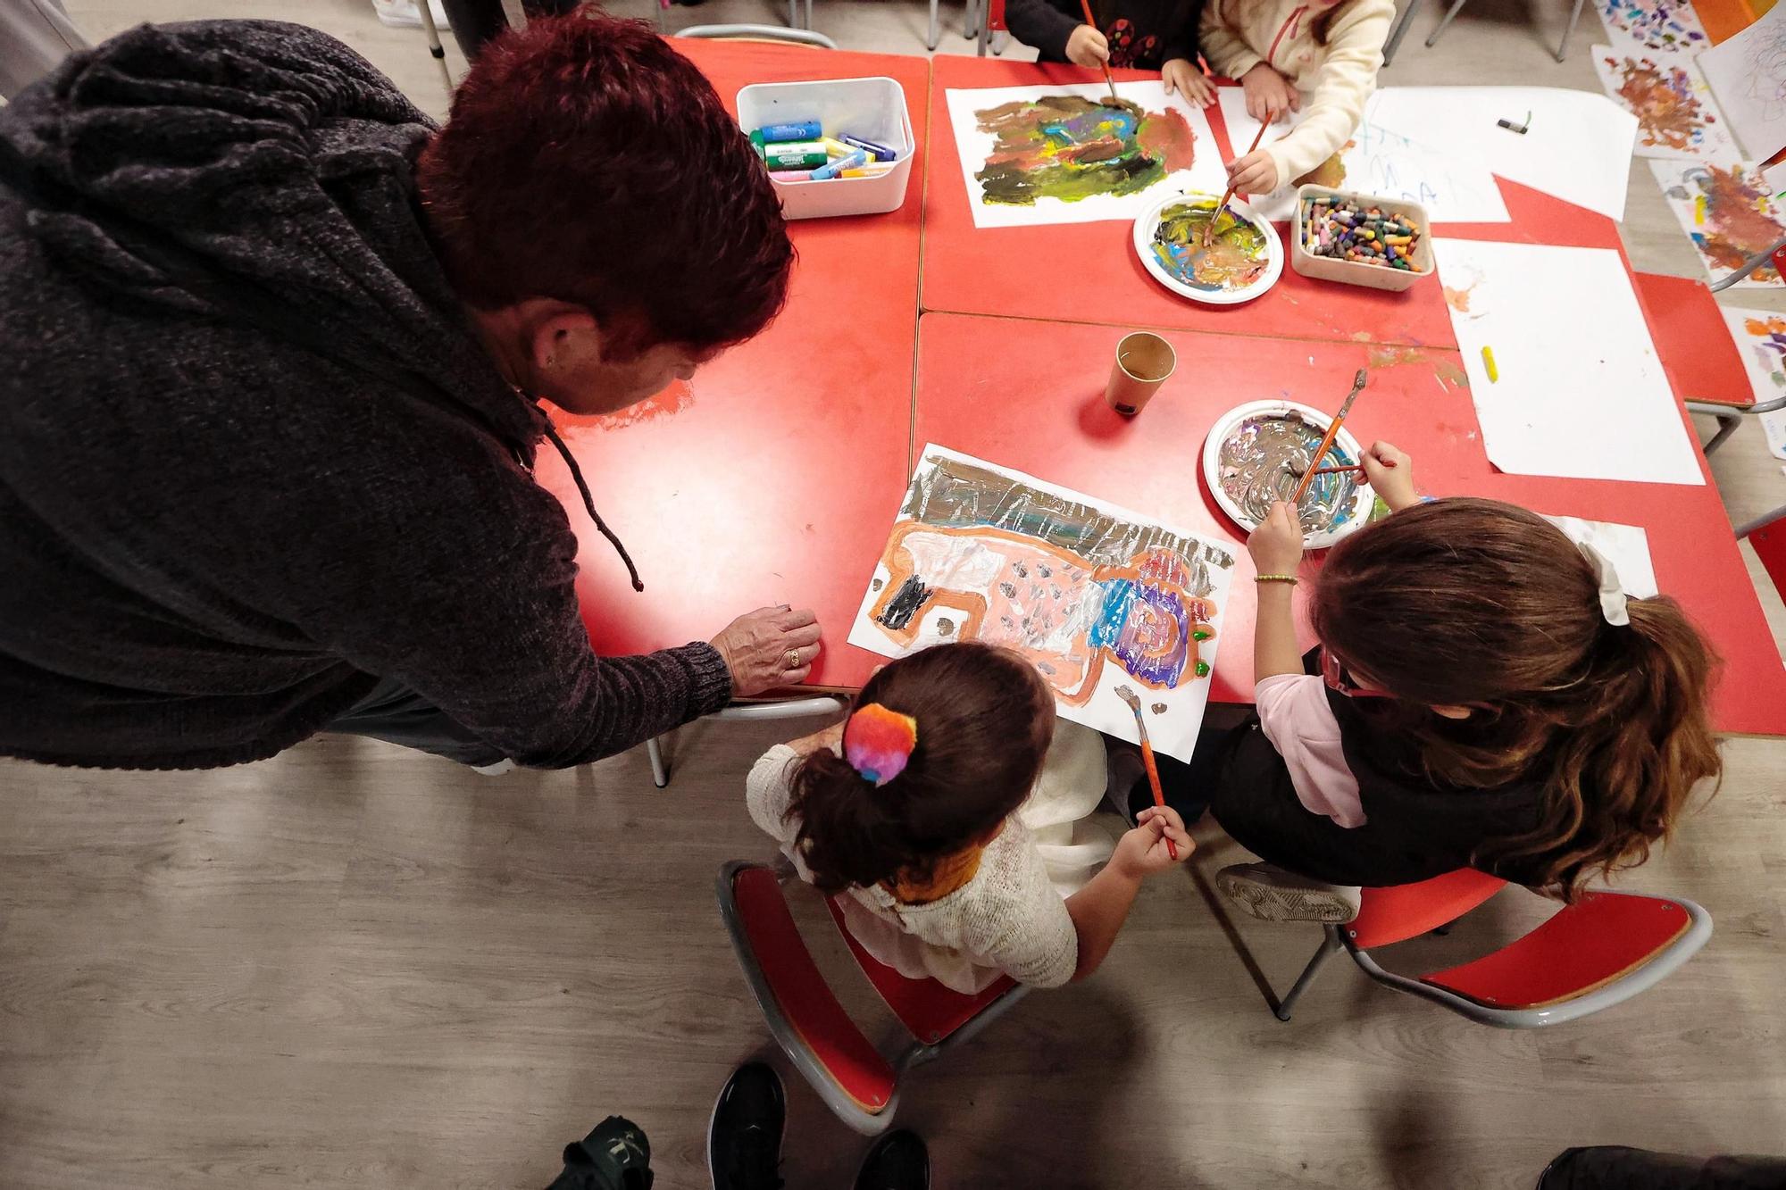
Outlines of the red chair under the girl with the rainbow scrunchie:
<svg viewBox="0 0 1786 1190">
<path fill-rule="evenodd" d="M 907 979 L 868 954 L 843 929 L 836 899 L 827 899 L 855 963 L 911 1033 L 911 1045 L 889 1060 L 832 995 L 788 911 L 773 868 L 734 859 L 720 868 L 716 892 L 738 965 L 745 968 L 775 1042 L 838 1119 L 864 1136 L 893 1122 L 898 1079 L 906 1070 L 972 1040 L 1029 990 L 1000 979 L 979 995 L 961 995 L 934 979 Z"/>
</svg>

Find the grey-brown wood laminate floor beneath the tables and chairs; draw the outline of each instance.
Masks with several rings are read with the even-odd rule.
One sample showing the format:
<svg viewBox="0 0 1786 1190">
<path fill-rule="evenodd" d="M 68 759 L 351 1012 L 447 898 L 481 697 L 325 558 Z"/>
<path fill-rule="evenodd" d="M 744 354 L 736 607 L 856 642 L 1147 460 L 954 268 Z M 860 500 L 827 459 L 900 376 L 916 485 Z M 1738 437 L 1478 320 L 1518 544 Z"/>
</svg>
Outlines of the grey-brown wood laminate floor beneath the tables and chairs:
<svg viewBox="0 0 1786 1190">
<path fill-rule="evenodd" d="M 304 20 L 443 107 L 420 34 L 379 27 L 364 0 L 70 11 L 95 36 Z M 848 48 L 922 52 L 918 4 L 820 0 L 816 16 Z M 1568 63 L 1541 46 L 1563 16 L 1547 0 L 1540 34 L 1522 5 L 1479 0 L 1438 48 L 1409 38 L 1386 82 L 1593 88 L 1591 16 Z M 673 20 L 777 9 L 713 0 Z M 968 43 L 945 29 L 943 48 Z M 1695 268 L 1641 168 L 1627 243 L 1641 268 Z M 1736 520 L 1786 504 L 1754 427 L 1716 470 Z M 764 854 L 741 777 L 793 733 L 688 729 L 664 792 L 641 752 L 486 779 L 339 738 L 209 774 L 0 763 L 0 1186 L 543 1186 L 559 1145 L 611 1111 L 648 1131 L 659 1186 L 707 1185 L 713 1095 L 768 1047 L 711 883 Z M 1725 756 L 1723 792 L 1625 881 L 1698 899 L 1716 936 L 1616 1011 L 1498 1033 L 1341 963 L 1279 1024 L 1173 876 L 1098 977 L 914 1074 L 902 1122 L 957 1188 L 1513 1190 L 1577 1144 L 1786 1151 L 1786 743 Z M 1200 861 L 1234 854 L 1213 838 Z M 1507 893 L 1397 961 L 1468 954 L 1541 913 Z M 1250 920 L 1238 936 L 1279 988 L 1316 940 Z M 864 1144 L 793 1076 L 789 1099 L 788 1185 L 848 1186 Z"/>
</svg>

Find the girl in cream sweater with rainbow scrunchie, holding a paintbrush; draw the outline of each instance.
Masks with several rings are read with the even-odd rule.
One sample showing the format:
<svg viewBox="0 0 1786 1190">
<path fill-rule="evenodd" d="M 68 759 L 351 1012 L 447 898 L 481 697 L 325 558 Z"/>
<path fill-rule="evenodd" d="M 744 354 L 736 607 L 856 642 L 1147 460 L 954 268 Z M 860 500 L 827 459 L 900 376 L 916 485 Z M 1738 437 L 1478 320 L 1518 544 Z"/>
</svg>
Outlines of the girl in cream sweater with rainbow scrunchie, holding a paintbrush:
<svg viewBox="0 0 1786 1190">
<path fill-rule="evenodd" d="M 1097 970 L 1141 879 L 1191 854 L 1172 809 L 1148 808 L 1109 863 L 1063 901 L 1025 827 L 1032 793 L 1068 779 L 1104 797 L 1100 736 L 1056 722 L 1022 656 L 936 645 L 868 679 L 843 724 L 770 749 L 750 817 L 800 877 L 839 897 L 882 963 L 973 993 L 1000 976 L 1054 988 Z"/>
</svg>

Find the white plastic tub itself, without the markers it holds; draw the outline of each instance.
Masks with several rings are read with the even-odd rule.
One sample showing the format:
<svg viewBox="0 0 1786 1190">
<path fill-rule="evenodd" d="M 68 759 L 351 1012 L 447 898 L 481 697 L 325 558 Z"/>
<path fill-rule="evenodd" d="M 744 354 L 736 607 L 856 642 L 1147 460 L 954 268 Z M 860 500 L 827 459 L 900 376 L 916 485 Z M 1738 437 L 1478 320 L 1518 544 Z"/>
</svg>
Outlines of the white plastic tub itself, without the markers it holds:
<svg viewBox="0 0 1786 1190">
<path fill-rule="evenodd" d="M 834 214 L 884 214 L 906 204 L 916 139 L 906 89 L 895 79 L 822 79 L 814 82 L 752 82 L 738 93 L 738 125 L 750 132 L 772 123 L 818 120 L 825 136 L 859 136 L 898 154 L 877 177 L 836 177 L 825 182 L 775 180 L 782 214 L 818 220 Z"/>
</svg>

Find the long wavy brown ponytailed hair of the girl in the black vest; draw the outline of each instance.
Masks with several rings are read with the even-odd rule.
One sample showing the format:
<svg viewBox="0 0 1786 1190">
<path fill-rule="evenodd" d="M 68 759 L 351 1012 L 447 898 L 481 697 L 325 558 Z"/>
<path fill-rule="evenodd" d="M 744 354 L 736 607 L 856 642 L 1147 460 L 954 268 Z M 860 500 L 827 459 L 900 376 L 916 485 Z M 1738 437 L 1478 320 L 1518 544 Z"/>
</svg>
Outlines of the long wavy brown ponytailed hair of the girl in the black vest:
<svg viewBox="0 0 1786 1190">
<path fill-rule="evenodd" d="M 1418 749 L 1434 783 L 1543 786 L 1543 822 L 1482 840 L 1570 901 L 1636 867 L 1723 761 L 1707 722 L 1716 658 L 1666 597 L 1607 624 L 1598 575 L 1545 518 L 1497 500 L 1434 500 L 1332 549 L 1314 593 L 1322 643 L 1395 699 L 1361 699 Z M 1468 706 L 1448 720 L 1431 708 Z"/>
</svg>

